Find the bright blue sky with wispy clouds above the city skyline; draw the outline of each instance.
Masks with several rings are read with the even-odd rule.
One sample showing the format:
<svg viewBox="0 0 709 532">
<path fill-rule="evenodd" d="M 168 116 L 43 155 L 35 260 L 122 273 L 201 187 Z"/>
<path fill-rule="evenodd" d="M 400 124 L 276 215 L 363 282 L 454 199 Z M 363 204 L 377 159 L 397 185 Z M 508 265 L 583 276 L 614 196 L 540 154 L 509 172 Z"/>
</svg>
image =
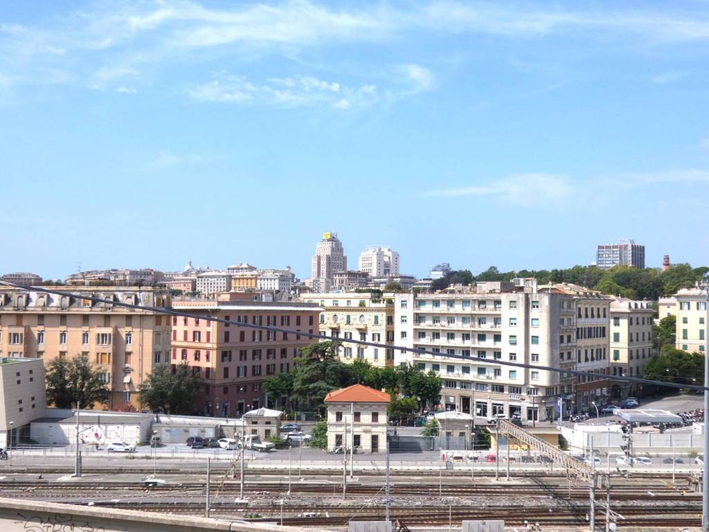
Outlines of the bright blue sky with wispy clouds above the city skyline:
<svg viewBox="0 0 709 532">
<path fill-rule="evenodd" d="M 709 264 L 709 3 L 4 1 L 0 270 Z"/>
</svg>

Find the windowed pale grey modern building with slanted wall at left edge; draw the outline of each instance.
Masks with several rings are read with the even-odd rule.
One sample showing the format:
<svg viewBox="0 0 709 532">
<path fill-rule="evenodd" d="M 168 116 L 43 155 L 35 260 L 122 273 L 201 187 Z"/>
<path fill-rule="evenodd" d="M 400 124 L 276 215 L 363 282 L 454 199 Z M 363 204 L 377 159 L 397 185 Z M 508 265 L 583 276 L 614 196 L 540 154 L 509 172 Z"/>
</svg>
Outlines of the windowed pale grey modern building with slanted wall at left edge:
<svg viewBox="0 0 709 532">
<path fill-rule="evenodd" d="M 30 421 L 44 417 L 46 403 L 42 360 L 0 358 L 0 448 L 26 441 Z"/>
</svg>

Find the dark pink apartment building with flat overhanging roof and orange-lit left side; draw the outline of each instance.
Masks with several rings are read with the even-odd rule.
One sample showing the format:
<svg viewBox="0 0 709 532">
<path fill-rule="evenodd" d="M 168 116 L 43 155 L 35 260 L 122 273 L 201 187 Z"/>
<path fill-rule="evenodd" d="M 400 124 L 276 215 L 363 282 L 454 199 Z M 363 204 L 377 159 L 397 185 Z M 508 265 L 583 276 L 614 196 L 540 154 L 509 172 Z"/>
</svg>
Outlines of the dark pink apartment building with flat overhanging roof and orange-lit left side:
<svg viewBox="0 0 709 532">
<path fill-rule="evenodd" d="M 254 325 L 318 333 L 318 305 L 261 301 L 174 301 L 175 310 Z M 233 416 L 262 406 L 284 406 L 286 397 L 266 397 L 263 383 L 294 367 L 307 336 L 228 325 L 202 318 L 172 318 L 173 367 L 186 363 L 200 379 L 196 411 Z"/>
</svg>

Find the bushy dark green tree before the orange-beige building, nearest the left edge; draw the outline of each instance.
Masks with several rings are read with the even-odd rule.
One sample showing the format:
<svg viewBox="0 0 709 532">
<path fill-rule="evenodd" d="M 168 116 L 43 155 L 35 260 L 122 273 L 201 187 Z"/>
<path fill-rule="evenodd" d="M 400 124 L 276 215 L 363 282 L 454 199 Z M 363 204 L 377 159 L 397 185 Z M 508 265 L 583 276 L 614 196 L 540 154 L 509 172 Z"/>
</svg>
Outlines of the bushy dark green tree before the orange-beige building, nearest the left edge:
<svg viewBox="0 0 709 532">
<path fill-rule="evenodd" d="M 47 402 L 60 409 L 77 406 L 92 409 L 95 403 L 108 398 L 106 384 L 99 370 L 91 365 L 89 357 L 55 358 L 47 365 L 45 376 Z"/>
</svg>

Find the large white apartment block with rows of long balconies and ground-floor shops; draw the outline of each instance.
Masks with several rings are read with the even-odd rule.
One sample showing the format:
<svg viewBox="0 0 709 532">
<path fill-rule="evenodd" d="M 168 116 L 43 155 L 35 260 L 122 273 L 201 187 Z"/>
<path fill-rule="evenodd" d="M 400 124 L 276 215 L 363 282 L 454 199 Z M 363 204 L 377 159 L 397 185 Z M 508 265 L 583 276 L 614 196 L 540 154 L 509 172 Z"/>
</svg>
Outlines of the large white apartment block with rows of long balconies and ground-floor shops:
<svg viewBox="0 0 709 532">
<path fill-rule="evenodd" d="M 397 351 L 395 362 L 440 375 L 445 409 L 478 417 L 518 413 L 531 421 L 555 419 L 557 397 L 571 407 L 570 377 L 501 362 L 575 366 L 573 297 L 537 292 L 535 282 L 525 287 L 519 279 L 396 294 L 394 305 L 396 343 L 435 353 Z"/>
</svg>

